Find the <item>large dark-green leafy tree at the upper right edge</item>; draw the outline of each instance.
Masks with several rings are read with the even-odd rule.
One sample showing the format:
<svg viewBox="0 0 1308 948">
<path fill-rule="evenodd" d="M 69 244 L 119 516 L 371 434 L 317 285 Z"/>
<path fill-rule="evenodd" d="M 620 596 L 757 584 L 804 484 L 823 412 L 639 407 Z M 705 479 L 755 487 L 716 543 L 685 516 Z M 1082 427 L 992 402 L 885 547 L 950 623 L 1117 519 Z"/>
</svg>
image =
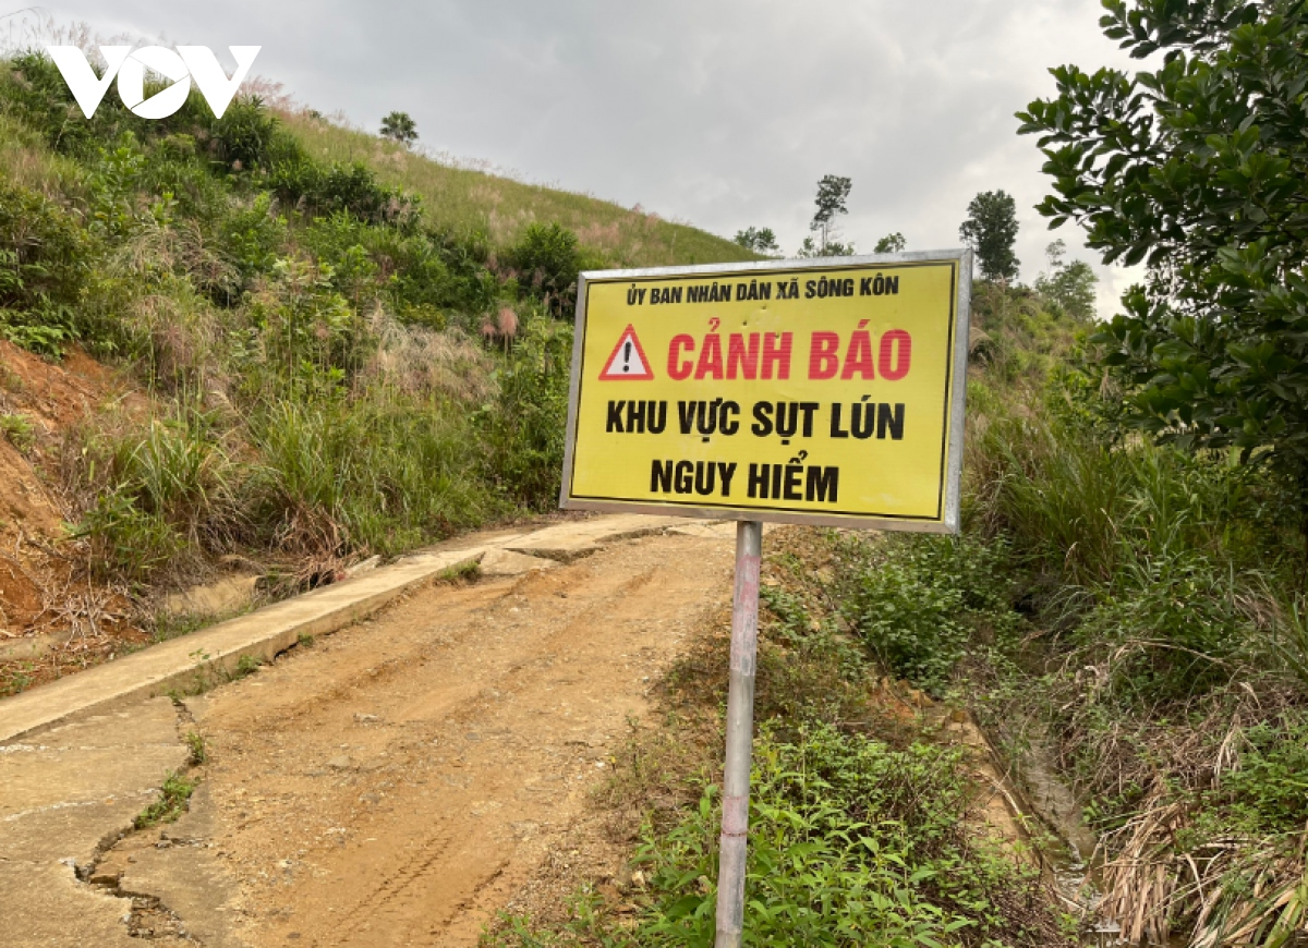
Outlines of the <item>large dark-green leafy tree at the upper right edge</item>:
<svg viewBox="0 0 1308 948">
<path fill-rule="evenodd" d="M 1134 76 L 1052 71 L 1057 97 L 1018 116 L 1053 178 L 1040 212 L 1147 264 L 1096 337 L 1130 420 L 1281 468 L 1308 511 L 1308 8 L 1105 8 L 1109 38 L 1165 55 Z"/>
</svg>

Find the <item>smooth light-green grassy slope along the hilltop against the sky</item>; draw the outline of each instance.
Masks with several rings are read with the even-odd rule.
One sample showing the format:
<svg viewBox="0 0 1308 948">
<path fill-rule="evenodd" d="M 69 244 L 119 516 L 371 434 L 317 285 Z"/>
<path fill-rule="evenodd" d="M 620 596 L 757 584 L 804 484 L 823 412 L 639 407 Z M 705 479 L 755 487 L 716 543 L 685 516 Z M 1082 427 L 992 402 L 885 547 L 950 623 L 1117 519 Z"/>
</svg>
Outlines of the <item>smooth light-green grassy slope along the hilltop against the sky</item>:
<svg viewBox="0 0 1308 948">
<path fill-rule="evenodd" d="M 623 267 L 763 259 L 729 239 L 654 213 L 441 163 L 396 143 L 306 114 L 283 114 L 283 119 L 314 158 L 362 161 L 382 182 L 421 195 L 433 224 L 455 231 L 484 230 L 496 246 L 513 243 L 532 221 L 551 221 L 572 229 L 582 246 Z"/>
</svg>

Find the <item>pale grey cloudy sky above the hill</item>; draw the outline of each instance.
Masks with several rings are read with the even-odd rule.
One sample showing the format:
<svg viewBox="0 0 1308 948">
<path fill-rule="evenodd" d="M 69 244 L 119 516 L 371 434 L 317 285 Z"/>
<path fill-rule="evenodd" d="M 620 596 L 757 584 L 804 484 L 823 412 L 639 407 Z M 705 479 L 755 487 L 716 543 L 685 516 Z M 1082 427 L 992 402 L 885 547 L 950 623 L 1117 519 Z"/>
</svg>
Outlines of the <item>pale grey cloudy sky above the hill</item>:
<svg viewBox="0 0 1308 948">
<path fill-rule="evenodd" d="M 21 0 L 10 0 L 16 7 Z M 263 47 L 255 72 L 375 128 L 392 109 L 421 144 L 518 177 L 641 204 L 730 237 L 770 226 L 793 252 L 824 174 L 854 187 L 845 239 L 870 251 L 957 246 L 978 191 L 1016 197 L 1023 279 L 1050 234 L 1035 141 L 1012 114 L 1048 68 L 1129 67 L 1099 0 L 63 0 L 98 34 Z M 0 14 L 7 10 L 0 5 Z M 13 22 L 13 20 L 8 21 Z M 1100 313 L 1130 279 L 1097 267 Z"/>
</svg>

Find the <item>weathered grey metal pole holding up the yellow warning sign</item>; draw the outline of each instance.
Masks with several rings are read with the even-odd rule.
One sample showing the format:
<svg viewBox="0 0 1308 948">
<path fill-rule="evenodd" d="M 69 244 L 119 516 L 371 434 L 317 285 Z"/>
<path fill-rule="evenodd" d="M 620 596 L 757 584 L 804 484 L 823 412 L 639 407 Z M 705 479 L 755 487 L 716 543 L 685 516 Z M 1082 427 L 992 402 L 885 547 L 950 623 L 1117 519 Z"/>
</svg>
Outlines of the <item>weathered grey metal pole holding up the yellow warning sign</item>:
<svg viewBox="0 0 1308 948">
<path fill-rule="evenodd" d="M 759 651 L 761 557 L 763 524 L 740 520 L 736 523 L 727 758 L 722 777 L 722 838 L 718 846 L 717 948 L 740 948 L 744 931 L 744 864 L 749 830 L 749 756 L 753 744 L 753 671 Z"/>
</svg>

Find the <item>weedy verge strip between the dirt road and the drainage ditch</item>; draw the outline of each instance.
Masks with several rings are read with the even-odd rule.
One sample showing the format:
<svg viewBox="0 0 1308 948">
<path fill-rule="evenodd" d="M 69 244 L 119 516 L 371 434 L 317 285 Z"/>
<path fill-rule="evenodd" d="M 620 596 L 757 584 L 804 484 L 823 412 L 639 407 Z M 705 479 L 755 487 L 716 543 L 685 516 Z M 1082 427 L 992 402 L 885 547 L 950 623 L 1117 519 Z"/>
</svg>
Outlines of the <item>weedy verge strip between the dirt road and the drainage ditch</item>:
<svg viewBox="0 0 1308 948">
<path fill-rule="evenodd" d="M 997 792 L 977 778 L 982 754 L 948 707 L 886 680 L 854 632 L 846 592 L 867 556 L 835 531 L 768 537 L 747 944 L 1073 944 L 1039 841 L 982 813 Z M 706 622 L 598 792 L 629 871 L 501 918 L 485 944 L 713 944 L 727 626 L 726 612 Z"/>
</svg>

